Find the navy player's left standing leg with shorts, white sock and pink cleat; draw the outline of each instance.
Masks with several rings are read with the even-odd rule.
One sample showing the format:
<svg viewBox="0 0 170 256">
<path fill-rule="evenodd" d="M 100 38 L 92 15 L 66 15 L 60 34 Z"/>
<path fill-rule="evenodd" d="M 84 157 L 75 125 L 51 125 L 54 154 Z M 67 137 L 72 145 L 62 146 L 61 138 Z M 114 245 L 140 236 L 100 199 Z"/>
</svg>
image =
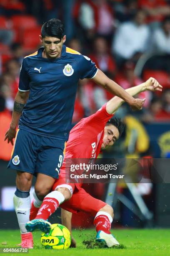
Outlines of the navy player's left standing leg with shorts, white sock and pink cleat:
<svg viewBox="0 0 170 256">
<path fill-rule="evenodd" d="M 17 170 L 16 191 L 13 197 L 15 212 L 21 232 L 21 246 L 33 247 L 32 234 L 28 233 L 25 223 L 30 215 L 30 187 L 32 184 L 32 174 L 35 170 L 36 145 L 34 134 L 24 130 L 18 130 L 14 142 L 11 160 L 8 168 Z"/>
</svg>

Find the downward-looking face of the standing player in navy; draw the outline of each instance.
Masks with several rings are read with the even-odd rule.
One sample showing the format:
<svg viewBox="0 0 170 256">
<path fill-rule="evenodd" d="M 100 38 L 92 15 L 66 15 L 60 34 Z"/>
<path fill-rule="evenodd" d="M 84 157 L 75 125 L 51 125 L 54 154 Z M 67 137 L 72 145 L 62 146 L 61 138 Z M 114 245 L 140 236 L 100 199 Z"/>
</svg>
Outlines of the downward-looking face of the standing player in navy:
<svg viewBox="0 0 170 256">
<path fill-rule="evenodd" d="M 44 46 L 45 57 L 49 59 L 60 58 L 62 51 L 62 44 L 65 43 L 66 36 L 57 38 L 52 36 L 40 36 L 40 41 Z"/>
</svg>

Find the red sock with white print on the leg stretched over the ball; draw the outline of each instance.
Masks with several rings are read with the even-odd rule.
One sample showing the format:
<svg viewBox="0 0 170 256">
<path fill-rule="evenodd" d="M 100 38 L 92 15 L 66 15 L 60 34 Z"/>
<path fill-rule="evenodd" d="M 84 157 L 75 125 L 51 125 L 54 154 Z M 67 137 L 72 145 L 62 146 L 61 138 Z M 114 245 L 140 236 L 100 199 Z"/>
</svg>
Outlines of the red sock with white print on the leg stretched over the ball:
<svg viewBox="0 0 170 256">
<path fill-rule="evenodd" d="M 58 206 L 57 199 L 45 197 L 35 219 L 47 220 L 57 210 Z"/>
</svg>

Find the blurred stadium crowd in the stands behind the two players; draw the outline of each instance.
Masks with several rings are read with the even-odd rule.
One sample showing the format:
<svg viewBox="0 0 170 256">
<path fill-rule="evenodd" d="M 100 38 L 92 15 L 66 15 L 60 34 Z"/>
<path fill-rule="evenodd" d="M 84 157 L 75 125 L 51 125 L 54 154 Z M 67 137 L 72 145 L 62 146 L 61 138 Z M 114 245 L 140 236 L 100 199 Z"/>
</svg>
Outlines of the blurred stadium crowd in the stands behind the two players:
<svg viewBox="0 0 170 256">
<path fill-rule="evenodd" d="M 170 157 L 170 0 L 0 0 L 0 159 L 10 159 L 12 146 L 3 140 L 23 57 L 41 46 L 40 28 L 50 18 L 63 21 L 68 47 L 89 56 L 124 89 L 149 77 L 163 85 L 162 93 L 138 95 L 146 98 L 142 111 L 132 112 L 126 104 L 117 111 L 125 133 L 103 156 Z M 73 125 L 111 97 L 91 80 L 81 80 Z M 93 187 L 93 195 L 101 198 L 103 189 Z M 150 183 L 139 191 L 155 196 Z M 150 207 L 154 210 L 154 203 Z"/>
</svg>

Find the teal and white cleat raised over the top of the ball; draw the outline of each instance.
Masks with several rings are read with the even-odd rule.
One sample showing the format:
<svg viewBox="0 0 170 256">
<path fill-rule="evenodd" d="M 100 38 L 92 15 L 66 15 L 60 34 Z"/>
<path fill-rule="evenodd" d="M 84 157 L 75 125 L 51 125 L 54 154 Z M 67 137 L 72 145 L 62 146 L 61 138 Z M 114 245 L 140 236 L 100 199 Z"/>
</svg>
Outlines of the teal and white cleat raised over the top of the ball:
<svg viewBox="0 0 170 256">
<path fill-rule="evenodd" d="M 51 229 L 51 224 L 47 220 L 34 219 L 30 220 L 25 224 L 25 228 L 28 232 L 32 232 L 35 229 L 41 230 L 42 232 L 48 233 Z"/>
</svg>

